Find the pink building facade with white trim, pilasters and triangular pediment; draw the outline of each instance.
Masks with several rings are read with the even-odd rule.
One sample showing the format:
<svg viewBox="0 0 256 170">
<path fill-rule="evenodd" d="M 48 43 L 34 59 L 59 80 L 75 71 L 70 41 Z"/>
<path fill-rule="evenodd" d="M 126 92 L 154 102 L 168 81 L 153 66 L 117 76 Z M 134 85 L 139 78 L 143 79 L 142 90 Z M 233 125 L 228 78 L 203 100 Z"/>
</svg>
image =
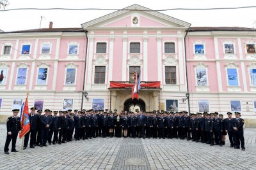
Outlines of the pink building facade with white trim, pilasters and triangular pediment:
<svg viewBox="0 0 256 170">
<path fill-rule="evenodd" d="M 31 106 L 51 110 L 240 111 L 247 124 L 255 122 L 255 29 L 191 27 L 138 11 L 148 8 L 137 4 L 125 9 L 78 29 L 1 33 L 0 116 L 10 115 L 20 104 L 15 99 L 24 101 L 29 91 Z M 134 71 L 145 83 L 161 82 L 141 89 L 138 103 L 131 89 L 109 88 L 110 81 L 132 83 Z"/>
</svg>

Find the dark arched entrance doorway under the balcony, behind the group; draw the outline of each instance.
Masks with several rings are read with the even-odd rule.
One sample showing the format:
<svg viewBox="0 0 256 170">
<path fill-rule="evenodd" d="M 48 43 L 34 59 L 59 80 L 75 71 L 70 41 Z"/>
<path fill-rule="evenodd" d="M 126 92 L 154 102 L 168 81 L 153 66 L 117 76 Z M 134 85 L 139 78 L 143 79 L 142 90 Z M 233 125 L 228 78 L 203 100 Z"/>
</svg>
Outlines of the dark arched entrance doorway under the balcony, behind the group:
<svg viewBox="0 0 256 170">
<path fill-rule="evenodd" d="M 137 100 L 134 99 L 132 101 L 132 99 L 127 99 L 127 101 L 125 101 L 124 103 L 124 111 L 145 111 L 146 108 L 146 104 L 143 100 Z"/>
</svg>

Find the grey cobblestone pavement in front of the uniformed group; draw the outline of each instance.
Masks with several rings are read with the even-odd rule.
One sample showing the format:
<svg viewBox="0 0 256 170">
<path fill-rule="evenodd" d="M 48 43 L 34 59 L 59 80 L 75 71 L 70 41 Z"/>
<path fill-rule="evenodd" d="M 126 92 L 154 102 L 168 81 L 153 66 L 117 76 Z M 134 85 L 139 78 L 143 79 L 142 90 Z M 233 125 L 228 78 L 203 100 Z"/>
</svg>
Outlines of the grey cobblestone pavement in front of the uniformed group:
<svg viewBox="0 0 256 170">
<path fill-rule="evenodd" d="M 4 155 L 6 126 L 0 125 L 0 169 L 256 169 L 256 129 L 244 132 L 246 150 L 180 139 L 96 138 Z M 11 148 L 11 146 L 10 146 Z"/>
</svg>

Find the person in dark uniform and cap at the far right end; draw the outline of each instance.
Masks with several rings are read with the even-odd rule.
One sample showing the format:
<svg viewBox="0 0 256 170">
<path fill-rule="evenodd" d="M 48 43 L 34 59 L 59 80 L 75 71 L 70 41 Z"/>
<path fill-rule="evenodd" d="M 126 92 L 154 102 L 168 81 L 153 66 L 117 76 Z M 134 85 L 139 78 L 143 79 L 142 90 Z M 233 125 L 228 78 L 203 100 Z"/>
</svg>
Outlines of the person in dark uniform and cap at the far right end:
<svg viewBox="0 0 256 170">
<path fill-rule="evenodd" d="M 236 143 L 235 143 L 235 149 L 240 149 L 240 144 L 241 148 L 244 151 L 244 120 L 243 118 L 240 117 L 241 113 L 235 112 L 236 118 L 233 119 L 232 121 L 232 127 L 234 129 L 234 134 L 236 138 Z"/>
</svg>

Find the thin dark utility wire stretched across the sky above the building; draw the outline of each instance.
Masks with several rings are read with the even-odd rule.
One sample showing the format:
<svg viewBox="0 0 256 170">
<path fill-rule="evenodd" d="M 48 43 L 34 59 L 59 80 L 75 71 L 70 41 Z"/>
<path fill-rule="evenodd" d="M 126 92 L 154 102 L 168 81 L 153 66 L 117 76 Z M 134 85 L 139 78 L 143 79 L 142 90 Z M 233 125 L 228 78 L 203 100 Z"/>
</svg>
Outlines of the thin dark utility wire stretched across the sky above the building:
<svg viewBox="0 0 256 170">
<path fill-rule="evenodd" d="M 73 11 L 83 11 L 83 10 L 102 10 L 102 11 L 173 11 L 173 10 L 237 10 L 243 8 L 256 8 L 256 6 L 238 6 L 238 7 L 225 7 L 225 8 L 170 8 L 162 10 L 136 10 L 136 9 L 108 9 L 108 8 L 13 8 L 4 11 L 18 11 L 18 10 L 73 10 Z"/>
</svg>

